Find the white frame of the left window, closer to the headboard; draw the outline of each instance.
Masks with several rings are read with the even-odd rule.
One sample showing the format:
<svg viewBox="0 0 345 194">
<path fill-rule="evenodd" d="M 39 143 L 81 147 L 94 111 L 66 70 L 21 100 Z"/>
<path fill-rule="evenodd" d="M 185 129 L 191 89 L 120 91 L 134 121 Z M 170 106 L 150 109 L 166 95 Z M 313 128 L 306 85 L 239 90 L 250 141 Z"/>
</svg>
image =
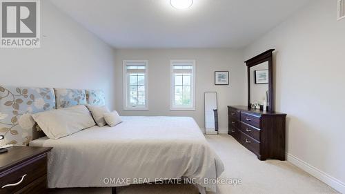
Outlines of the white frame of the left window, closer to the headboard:
<svg viewBox="0 0 345 194">
<path fill-rule="evenodd" d="M 127 64 L 128 63 L 144 63 L 145 69 L 145 105 L 144 106 L 128 106 L 128 78 L 127 78 Z M 123 61 L 123 83 L 124 83 L 124 110 L 148 110 L 148 60 L 124 60 Z"/>
</svg>

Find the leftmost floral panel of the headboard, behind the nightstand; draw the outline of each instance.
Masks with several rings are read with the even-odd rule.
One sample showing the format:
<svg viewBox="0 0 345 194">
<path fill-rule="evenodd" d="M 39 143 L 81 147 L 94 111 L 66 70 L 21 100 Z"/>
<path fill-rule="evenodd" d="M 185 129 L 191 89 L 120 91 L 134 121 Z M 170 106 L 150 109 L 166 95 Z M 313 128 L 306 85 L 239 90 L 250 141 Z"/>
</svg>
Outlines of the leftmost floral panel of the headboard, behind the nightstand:
<svg viewBox="0 0 345 194">
<path fill-rule="evenodd" d="M 39 137 L 36 127 L 29 128 L 22 124 L 25 127 L 22 128 L 19 120 L 26 113 L 54 108 L 55 95 L 52 88 L 0 86 L 0 134 L 5 135 L 6 144 L 26 145 Z M 28 118 L 25 120 L 28 121 Z"/>
</svg>

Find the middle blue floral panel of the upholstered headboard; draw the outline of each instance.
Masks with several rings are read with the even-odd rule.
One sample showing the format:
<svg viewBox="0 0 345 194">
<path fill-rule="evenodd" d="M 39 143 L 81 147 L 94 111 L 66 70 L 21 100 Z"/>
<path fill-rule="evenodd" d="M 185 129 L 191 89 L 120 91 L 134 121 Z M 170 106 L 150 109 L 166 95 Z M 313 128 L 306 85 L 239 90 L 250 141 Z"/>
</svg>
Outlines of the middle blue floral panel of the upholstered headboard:
<svg viewBox="0 0 345 194">
<path fill-rule="evenodd" d="M 87 104 L 85 90 L 57 88 L 54 88 L 54 90 L 57 108 L 68 108 L 79 104 Z"/>
</svg>

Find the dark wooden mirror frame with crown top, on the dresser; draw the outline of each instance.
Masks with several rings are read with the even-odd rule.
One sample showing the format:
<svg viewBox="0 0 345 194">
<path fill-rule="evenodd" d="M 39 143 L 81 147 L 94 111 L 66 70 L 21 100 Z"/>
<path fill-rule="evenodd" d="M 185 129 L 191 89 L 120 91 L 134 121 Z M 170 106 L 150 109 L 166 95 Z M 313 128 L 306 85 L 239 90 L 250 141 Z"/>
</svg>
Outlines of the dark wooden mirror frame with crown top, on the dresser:
<svg viewBox="0 0 345 194">
<path fill-rule="evenodd" d="M 244 61 L 248 70 L 248 108 L 250 106 L 250 68 L 259 64 L 262 64 L 265 61 L 268 61 L 268 112 L 274 112 L 274 99 L 273 99 L 273 51 L 275 49 L 266 50 L 262 54 L 257 55 L 247 61 Z"/>
</svg>

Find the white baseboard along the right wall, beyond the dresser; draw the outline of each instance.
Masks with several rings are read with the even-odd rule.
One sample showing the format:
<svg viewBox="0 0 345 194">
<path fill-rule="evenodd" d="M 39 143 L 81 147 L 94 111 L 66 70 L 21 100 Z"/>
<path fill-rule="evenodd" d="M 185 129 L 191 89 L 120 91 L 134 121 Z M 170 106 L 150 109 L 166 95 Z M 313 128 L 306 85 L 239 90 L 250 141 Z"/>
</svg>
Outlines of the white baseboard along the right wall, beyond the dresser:
<svg viewBox="0 0 345 194">
<path fill-rule="evenodd" d="M 287 153 L 287 156 L 288 162 L 291 162 L 292 164 L 295 164 L 295 166 L 302 168 L 302 170 L 313 175 L 313 177 L 316 177 L 318 180 L 328 184 L 328 186 L 331 186 L 339 193 L 345 194 L 345 184 L 343 182 L 337 180 L 335 177 L 332 177 L 331 175 L 324 173 L 323 171 L 320 171 L 314 166 L 311 166 L 310 164 L 304 162 L 302 159 L 295 157 L 294 155 L 290 155 L 289 153 Z"/>
</svg>

